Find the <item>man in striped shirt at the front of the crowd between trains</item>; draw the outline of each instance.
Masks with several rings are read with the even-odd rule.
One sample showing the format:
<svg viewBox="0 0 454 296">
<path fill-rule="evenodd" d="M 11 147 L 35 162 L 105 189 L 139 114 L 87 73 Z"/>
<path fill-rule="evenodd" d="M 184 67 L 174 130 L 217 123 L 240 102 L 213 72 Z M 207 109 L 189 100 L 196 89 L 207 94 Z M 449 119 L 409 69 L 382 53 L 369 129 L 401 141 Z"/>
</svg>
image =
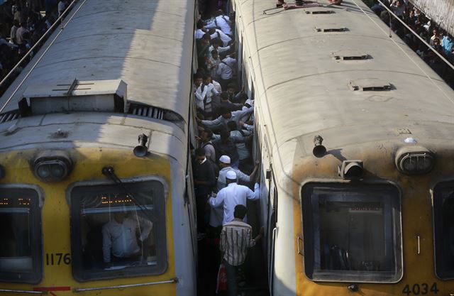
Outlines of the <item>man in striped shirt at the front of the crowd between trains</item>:
<svg viewBox="0 0 454 296">
<path fill-rule="evenodd" d="M 252 226 L 243 222 L 247 211 L 243 204 L 238 204 L 233 212 L 235 218 L 224 224 L 221 231 L 220 248 L 223 252 L 223 264 L 226 266 L 228 296 L 238 295 L 236 284 L 238 267 L 244 263 L 248 248 L 255 246 L 263 236 L 262 227 L 258 236 L 252 239 Z"/>
</svg>

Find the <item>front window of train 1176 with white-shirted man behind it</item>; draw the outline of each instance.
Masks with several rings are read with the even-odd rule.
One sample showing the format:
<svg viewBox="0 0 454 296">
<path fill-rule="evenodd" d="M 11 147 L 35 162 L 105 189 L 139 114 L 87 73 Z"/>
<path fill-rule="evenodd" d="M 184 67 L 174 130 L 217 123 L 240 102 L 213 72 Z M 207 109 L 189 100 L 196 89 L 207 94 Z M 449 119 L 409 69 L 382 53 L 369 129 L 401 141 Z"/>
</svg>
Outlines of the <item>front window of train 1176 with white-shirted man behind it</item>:
<svg viewBox="0 0 454 296">
<path fill-rule="evenodd" d="M 167 269 L 165 197 L 157 181 L 74 187 L 72 270 L 76 280 L 158 275 Z"/>
</svg>

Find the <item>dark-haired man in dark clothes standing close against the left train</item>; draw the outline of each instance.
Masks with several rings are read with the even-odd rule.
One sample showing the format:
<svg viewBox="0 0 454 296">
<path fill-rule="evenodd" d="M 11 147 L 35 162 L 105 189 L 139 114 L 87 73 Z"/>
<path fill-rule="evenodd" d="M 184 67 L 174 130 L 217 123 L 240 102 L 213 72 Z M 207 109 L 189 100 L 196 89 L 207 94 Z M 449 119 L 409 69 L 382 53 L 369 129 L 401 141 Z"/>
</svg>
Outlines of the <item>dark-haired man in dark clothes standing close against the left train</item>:
<svg viewBox="0 0 454 296">
<path fill-rule="evenodd" d="M 197 230 L 204 233 L 206 230 L 206 201 L 211 192 L 211 188 L 216 185 L 214 168 L 206 159 L 205 149 L 196 149 L 196 160 L 192 165 L 194 176 L 194 192 L 197 204 Z"/>
</svg>

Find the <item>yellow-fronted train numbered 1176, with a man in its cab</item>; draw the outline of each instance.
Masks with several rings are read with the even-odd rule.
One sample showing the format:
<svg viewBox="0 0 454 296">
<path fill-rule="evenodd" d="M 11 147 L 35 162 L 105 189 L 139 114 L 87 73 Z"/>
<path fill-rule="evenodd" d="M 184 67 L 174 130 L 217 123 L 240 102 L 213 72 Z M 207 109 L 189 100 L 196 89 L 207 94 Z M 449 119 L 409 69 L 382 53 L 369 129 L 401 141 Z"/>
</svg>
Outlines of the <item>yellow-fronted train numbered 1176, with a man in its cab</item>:
<svg viewBox="0 0 454 296">
<path fill-rule="evenodd" d="M 195 9 L 77 1 L 0 98 L 0 295 L 196 294 Z"/>
</svg>

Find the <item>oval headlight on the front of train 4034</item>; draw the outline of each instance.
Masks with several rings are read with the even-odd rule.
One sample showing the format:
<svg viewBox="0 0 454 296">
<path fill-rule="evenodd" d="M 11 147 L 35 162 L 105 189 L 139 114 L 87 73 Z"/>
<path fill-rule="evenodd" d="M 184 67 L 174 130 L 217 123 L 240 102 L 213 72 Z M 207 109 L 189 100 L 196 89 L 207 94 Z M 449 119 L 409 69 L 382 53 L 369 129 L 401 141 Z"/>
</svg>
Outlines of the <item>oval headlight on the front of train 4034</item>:
<svg viewBox="0 0 454 296">
<path fill-rule="evenodd" d="M 430 172 L 435 165 L 435 155 L 423 147 L 406 147 L 397 151 L 397 170 L 407 175 Z"/>
</svg>

